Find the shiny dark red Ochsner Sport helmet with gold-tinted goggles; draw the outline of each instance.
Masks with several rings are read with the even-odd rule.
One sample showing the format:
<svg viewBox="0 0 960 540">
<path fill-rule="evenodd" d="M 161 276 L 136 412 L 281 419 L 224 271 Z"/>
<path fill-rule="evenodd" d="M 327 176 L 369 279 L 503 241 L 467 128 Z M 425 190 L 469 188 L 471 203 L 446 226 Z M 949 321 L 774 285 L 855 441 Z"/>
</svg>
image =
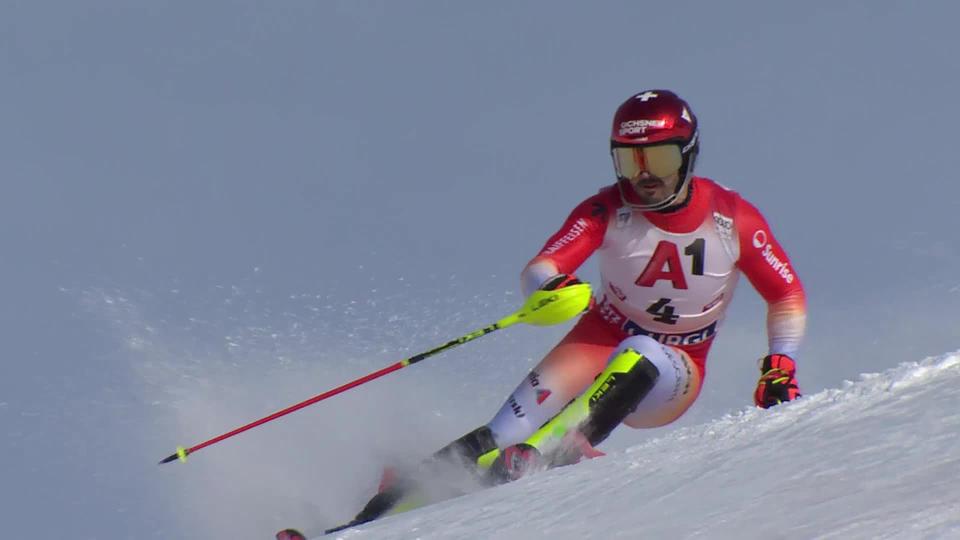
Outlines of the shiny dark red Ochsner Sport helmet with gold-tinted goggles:
<svg viewBox="0 0 960 540">
<path fill-rule="evenodd" d="M 676 202 L 693 177 L 699 151 L 697 117 L 686 101 L 669 90 L 647 90 L 631 96 L 613 116 L 610 154 L 621 198 L 629 206 L 661 210 Z M 629 201 L 624 183 L 637 167 L 657 176 L 679 171 L 680 182 L 673 194 L 661 202 L 645 205 Z"/>
</svg>

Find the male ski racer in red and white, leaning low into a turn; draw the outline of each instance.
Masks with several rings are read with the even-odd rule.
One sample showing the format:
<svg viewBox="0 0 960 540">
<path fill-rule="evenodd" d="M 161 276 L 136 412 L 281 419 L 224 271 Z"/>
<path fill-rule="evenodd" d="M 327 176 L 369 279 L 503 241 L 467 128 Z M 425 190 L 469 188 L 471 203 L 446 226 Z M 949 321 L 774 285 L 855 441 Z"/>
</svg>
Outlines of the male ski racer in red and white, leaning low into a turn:
<svg viewBox="0 0 960 540">
<path fill-rule="evenodd" d="M 740 272 L 768 305 L 769 350 L 754 402 L 767 408 L 800 396 L 803 287 L 760 212 L 693 176 L 699 148 L 697 118 L 673 92 L 644 91 L 617 109 L 616 183 L 574 208 L 521 274 L 527 295 L 564 287 L 579 283 L 573 272 L 596 254 L 596 301 L 489 423 L 430 462 L 453 461 L 497 483 L 597 455 L 594 447 L 621 423 L 673 422 L 700 393 Z M 341 528 L 383 515 L 413 485 L 381 485 Z"/>
</svg>

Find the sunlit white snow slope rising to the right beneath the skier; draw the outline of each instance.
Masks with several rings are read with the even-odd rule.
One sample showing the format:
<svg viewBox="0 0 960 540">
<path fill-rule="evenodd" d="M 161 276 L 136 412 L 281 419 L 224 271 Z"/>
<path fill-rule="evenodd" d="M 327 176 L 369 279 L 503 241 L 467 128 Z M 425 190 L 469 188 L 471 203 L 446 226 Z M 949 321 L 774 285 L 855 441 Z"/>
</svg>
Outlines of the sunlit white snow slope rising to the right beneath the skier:
<svg viewBox="0 0 960 540">
<path fill-rule="evenodd" d="M 960 538 L 960 352 L 339 538 Z"/>
</svg>

